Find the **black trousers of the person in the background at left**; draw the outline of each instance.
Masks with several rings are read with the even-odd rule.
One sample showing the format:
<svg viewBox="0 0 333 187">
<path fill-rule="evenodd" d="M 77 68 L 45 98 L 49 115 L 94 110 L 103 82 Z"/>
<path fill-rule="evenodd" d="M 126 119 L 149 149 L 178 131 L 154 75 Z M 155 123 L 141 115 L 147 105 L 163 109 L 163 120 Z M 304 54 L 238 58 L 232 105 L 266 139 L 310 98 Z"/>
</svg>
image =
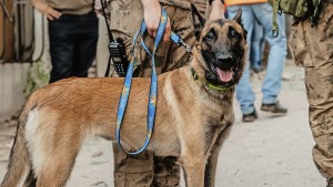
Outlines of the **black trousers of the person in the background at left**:
<svg viewBox="0 0 333 187">
<path fill-rule="evenodd" d="M 99 20 L 94 12 L 62 14 L 49 21 L 50 83 L 70 76 L 88 76 L 97 50 Z"/>
</svg>

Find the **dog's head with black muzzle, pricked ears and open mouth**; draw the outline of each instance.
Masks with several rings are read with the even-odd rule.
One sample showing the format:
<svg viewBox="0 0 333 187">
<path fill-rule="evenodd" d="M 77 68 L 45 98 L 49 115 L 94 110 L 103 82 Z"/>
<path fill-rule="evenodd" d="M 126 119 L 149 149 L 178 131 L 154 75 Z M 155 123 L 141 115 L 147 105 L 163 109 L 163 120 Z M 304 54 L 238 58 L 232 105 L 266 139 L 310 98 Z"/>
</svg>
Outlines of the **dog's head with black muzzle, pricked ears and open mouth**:
<svg viewBox="0 0 333 187">
<path fill-rule="evenodd" d="M 205 81 L 222 86 L 239 82 L 245 64 L 246 31 L 242 25 L 242 11 L 232 20 L 205 22 L 194 4 L 192 18 L 196 37 L 194 58 L 204 69 Z"/>
</svg>

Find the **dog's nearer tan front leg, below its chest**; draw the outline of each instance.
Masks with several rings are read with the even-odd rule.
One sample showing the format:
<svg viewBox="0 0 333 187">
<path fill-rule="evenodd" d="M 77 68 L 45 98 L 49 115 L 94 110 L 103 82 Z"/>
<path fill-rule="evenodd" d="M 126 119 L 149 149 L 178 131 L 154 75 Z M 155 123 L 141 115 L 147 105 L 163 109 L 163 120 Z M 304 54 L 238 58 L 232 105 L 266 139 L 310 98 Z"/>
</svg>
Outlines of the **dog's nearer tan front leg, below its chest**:
<svg viewBox="0 0 333 187">
<path fill-rule="evenodd" d="M 204 185 L 204 157 L 198 155 L 184 156 L 180 159 L 184 170 L 186 187 L 203 187 Z"/>
</svg>

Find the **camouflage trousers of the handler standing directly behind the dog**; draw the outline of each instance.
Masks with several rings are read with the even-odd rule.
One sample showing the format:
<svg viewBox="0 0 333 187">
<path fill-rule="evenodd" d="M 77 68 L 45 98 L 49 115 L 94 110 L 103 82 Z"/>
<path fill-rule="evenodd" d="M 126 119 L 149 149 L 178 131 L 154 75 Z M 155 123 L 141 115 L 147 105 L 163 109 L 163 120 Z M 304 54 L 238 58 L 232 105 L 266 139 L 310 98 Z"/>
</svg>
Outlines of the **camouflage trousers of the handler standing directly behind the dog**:
<svg viewBox="0 0 333 187">
<path fill-rule="evenodd" d="M 111 32 L 114 38 L 124 39 L 127 53 L 130 56 L 132 38 L 140 28 L 143 8 L 140 0 L 111 0 Z M 190 46 L 194 45 L 194 28 L 190 10 L 163 4 L 171 21 L 171 29 Z M 140 41 L 140 40 L 138 40 Z M 149 46 L 153 45 L 150 37 L 144 38 Z M 151 65 L 144 50 L 137 42 L 134 76 L 150 76 Z M 161 43 L 155 54 L 157 71 L 163 73 L 178 69 L 190 62 L 190 54 L 171 42 Z M 117 76 L 113 73 L 113 76 Z M 145 108 L 147 106 L 142 106 Z M 140 108 L 141 110 L 141 108 Z M 144 134 L 142 134 L 144 136 Z M 115 187 L 149 187 L 179 186 L 180 166 L 174 157 L 157 157 L 153 153 L 142 153 L 138 156 L 125 155 L 114 143 L 114 186 Z"/>
</svg>

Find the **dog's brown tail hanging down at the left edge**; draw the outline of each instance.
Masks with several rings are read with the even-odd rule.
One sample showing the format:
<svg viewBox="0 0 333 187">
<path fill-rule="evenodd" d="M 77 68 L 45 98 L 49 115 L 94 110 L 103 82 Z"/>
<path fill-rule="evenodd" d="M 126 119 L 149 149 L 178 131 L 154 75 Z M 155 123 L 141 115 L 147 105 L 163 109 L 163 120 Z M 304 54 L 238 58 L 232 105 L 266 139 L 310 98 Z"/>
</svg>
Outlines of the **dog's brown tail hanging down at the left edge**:
<svg viewBox="0 0 333 187">
<path fill-rule="evenodd" d="M 17 135 L 11 148 L 7 174 L 1 183 L 1 187 L 18 186 L 22 180 L 24 172 L 29 169 L 28 147 L 24 141 L 24 124 L 27 115 L 22 113 L 17 127 Z"/>
</svg>

